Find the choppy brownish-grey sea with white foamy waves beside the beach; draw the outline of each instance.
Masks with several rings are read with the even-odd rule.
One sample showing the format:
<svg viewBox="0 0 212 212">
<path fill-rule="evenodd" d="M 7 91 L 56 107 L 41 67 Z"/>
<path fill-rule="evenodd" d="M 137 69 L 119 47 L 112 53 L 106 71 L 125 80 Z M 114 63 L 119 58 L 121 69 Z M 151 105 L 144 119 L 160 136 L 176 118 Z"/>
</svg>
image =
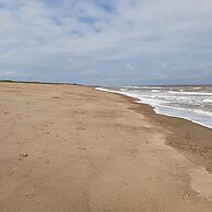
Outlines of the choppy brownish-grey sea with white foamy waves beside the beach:
<svg viewBox="0 0 212 212">
<path fill-rule="evenodd" d="M 96 89 L 134 97 L 151 105 L 157 114 L 185 118 L 212 129 L 212 85 Z"/>
</svg>

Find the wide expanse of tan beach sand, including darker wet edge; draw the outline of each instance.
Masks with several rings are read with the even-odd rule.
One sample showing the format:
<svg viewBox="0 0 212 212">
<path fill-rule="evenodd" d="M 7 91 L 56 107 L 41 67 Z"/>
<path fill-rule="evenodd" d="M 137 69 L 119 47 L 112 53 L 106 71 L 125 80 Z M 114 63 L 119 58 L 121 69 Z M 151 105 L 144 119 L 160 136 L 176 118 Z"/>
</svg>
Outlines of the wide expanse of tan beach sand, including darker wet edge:
<svg viewBox="0 0 212 212">
<path fill-rule="evenodd" d="M 0 211 L 212 211 L 212 130 L 93 87 L 0 83 Z"/>
</svg>

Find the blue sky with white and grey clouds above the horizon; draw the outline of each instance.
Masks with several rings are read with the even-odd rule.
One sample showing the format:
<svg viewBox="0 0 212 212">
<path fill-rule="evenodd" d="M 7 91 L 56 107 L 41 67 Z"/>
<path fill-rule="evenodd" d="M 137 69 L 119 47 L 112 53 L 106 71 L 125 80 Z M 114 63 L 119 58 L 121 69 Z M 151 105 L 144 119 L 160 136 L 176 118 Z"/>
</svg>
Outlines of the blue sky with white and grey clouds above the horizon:
<svg viewBox="0 0 212 212">
<path fill-rule="evenodd" d="M 0 79 L 212 83 L 212 0 L 0 0 Z"/>
</svg>

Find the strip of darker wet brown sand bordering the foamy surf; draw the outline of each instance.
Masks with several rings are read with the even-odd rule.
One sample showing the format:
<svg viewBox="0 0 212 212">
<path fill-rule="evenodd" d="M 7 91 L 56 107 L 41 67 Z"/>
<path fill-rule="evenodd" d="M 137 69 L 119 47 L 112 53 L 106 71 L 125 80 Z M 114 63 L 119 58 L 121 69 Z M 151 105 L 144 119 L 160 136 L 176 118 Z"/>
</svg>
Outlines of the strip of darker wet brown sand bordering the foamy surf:
<svg viewBox="0 0 212 212">
<path fill-rule="evenodd" d="M 102 91 L 107 92 L 107 91 Z M 108 92 L 120 95 L 136 105 L 133 110 L 143 114 L 155 125 L 168 130 L 166 134 L 166 144 L 178 150 L 191 162 L 203 166 L 209 173 L 212 173 L 212 129 L 193 122 L 186 118 L 173 117 L 157 114 L 154 108 L 138 99 L 125 94 Z"/>
</svg>

